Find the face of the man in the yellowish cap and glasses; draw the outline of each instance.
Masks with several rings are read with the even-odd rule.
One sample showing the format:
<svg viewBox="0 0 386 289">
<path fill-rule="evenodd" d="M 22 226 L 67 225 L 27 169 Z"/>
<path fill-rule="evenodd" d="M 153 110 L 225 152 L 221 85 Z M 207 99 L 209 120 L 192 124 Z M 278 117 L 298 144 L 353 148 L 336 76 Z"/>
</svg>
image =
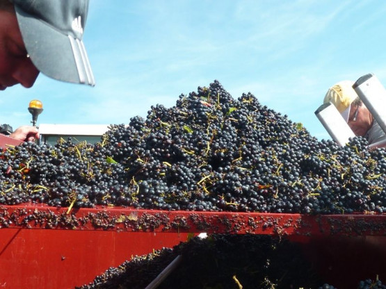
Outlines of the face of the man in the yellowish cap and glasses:
<svg viewBox="0 0 386 289">
<path fill-rule="evenodd" d="M 373 118 L 370 111 L 363 104 L 362 106 L 351 104 L 350 116 L 348 117 L 347 124 L 355 135 L 364 136 L 371 128 Z"/>
</svg>

